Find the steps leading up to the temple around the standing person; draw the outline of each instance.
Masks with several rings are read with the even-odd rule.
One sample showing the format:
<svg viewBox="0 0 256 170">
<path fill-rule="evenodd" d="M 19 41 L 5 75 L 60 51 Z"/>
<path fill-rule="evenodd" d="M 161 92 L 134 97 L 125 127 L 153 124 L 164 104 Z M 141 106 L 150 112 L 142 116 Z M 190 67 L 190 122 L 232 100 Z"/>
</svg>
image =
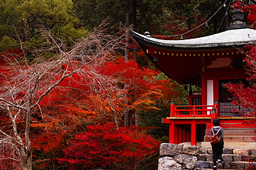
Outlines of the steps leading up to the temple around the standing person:
<svg viewBox="0 0 256 170">
<path fill-rule="evenodd" d="M 201 147 L 207 150 L 207 153 L 199 153 L 199 169 L 205 166 L 205 169 L 212 169 L 212 149 L 210 146 L 210 127 L 207 125 L 204 140 Z M 234 124 L 221 124 L 224 129 L 224 149 L 222 155 L 222 169 L 246 169 L 249 164 L 256 163 L 256 128 L 248 128 L 246 124 L 234 126 Z M 252 162 L 251 162 L 252 161 Z M 204 164 L 204 165 L 200 165 Z M 207 167 L 208 165 L 208 167 Z M 201 166 L 201 167 L 200 167 Z M 255 164 L 256 166 L 256 164 Z"/>
</svg>

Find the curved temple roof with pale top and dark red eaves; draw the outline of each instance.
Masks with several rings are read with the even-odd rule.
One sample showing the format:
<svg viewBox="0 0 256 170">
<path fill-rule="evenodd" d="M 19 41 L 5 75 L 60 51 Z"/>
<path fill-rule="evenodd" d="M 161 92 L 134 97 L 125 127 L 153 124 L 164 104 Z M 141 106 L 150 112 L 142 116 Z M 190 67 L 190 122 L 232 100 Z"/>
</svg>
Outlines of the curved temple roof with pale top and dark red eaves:
<svg viewBox="0 0 256 170">
<path fill-rule="evenodd" d="M 155 66 L 181 84 L 198 84 L 201 73 L 213 71 L 217 62 L 234 62 L 243 58 L 244 54 L 239 53 L 237 48 L 256 42 L 256 30 L 250 28 L 183 40 L 156 39 L 134 31 L 131 34 Z M 221 69 L 237 71 L 227 66 Z"/>
</svg>

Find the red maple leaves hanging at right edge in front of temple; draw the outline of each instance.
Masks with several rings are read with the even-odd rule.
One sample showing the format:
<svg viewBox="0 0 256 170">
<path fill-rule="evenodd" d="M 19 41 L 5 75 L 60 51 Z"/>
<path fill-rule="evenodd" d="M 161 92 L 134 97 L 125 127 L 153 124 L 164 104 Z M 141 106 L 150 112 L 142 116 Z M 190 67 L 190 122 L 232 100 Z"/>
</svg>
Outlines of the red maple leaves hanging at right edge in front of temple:
<svg viewBox="0 0 256 170">
<path fill-rule="evenodd" d="M 256 5 L 253 3 L 250 3 L 249 5 L 246 5 L 245 2 L 237 1 L 234 4 L 234 9 L 240 8 L 242 12 L 246 12 L 248 23 L 250 23 L 251 28 L 255 28 L 256 23 Z M 249 36 L 249 35 L 248 35 Z M 249 82 L 249 86 L 246 86 L 244 83 L 239 82 L 237 84 L 234 83 L 228 83 L 225 85 L 226 88 L 228 88 L 228 91 L 234 95 L 234 98 L 232 99 L 232 104 L 242 106 L 244 108 L 250 108 L 247 111 L 239 111 L 237 109 L 234 109 L 234 112 L 239 112 L 244 117 L 253 117 L 253 119 L 250 119 L 246 121 L 246 123 L 256 123 L 256 47 L 253 45 L 247 46 L 250 51 L 249 53 L 244 53 L 244 64 L 247 69 L 248 75 L 250 75 L 250 78 L 247 79 Z"/>
</svg>

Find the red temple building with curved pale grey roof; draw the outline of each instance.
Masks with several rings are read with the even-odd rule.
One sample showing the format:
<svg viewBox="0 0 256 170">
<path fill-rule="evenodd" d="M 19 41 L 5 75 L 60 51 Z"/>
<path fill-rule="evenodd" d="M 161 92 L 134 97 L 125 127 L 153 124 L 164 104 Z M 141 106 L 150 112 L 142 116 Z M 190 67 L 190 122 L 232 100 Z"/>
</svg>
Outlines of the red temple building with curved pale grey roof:
<svg viewBox="0 0 256 170">
<path fill-rule="evenodd" d="M 232 94 L 223 88 L 228 82 L 247 83 L 249 75 L 243 58 L 249 49 L 245 46 L 256 41 L 256 30 L 241 21 L 241 11 L 233 13 L 240 17 L 233 17 L 228 30 L 206 37 L 164 40 L 131 32 L 145 55 L 165 75 L 180 84 L 201 86 L 201 91 L 188 95 L 189 106 L 176 106 L 172 101 L 170 117 L 163 117 L 163 123 L 170 124 L 170 143 L 207 143 L 212 120 L 218 117 L 225 129 L 226 143 L 256 144 L 256 124 L 243 124 L 254 117 L 233 113 L 234 108 L 251 111 L 250 108 L 232 104 Z"/>
</svg>

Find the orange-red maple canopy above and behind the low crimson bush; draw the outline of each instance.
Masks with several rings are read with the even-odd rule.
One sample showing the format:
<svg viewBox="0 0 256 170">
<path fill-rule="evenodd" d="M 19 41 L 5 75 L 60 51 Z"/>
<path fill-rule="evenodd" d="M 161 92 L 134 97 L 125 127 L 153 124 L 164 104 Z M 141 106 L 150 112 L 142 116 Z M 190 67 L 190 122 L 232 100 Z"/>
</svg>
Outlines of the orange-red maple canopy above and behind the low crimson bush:
<svg viewBox="0 0 256 170">
<path fill-rule="evenodd" d="M 115 123 L 121 126 L 124 106 L 137 110 L 157 109 L 152 106 L 154 100 L 179 94 L 174 90 L 176 85 L 171 80 L 156 81 L 154 75 L 157 71 L 141 68 L 134 61 L 125 62 L 124 59 L 118 59 L 115 62 L 106 62 L 97 69 L 101 75 L 118 79 L 118 83 L 113 82 L 113 86 L 117 86 L 116 89 L 121 88 L 122 93 L 91 91 L 87 77 L 78 73 L 67 77 L 55 91 L 49 93 L 40 102 L 44 114 L 39 111 L 33 114 L 34 122 L 31 124 L 34 132 L 33 151 L 37 153 L 33 160 L 39 167 L 43 164 L 47 166 L 47 162 L 60 158 L 60 148 L 67 144 L 71 136 L 84 133 L 87 126 L 115 122 L 114 117 L 119 117 L 119 122 Z M 93 86 L 98 88 L 97 84 Z M 111 106 L 114 106 L 116 113 Z M 44 159 L 51 155 L 51 160 L 43 159 L 43 164 L 40 164 L 42 155 L 45 155 Z"/>
</svg>

